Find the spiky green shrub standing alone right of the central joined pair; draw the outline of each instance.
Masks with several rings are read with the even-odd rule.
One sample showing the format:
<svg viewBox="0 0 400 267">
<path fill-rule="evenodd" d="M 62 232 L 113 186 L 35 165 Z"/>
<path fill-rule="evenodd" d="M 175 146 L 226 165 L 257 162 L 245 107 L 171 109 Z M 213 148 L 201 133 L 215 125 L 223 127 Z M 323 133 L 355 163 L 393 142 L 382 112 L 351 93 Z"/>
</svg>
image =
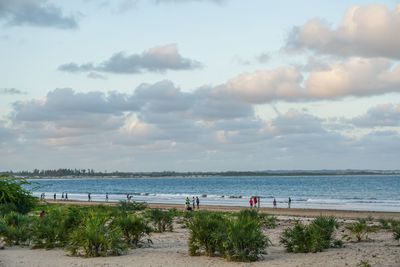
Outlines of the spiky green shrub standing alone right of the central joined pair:
<svg viewBox="0 0 400 267">
<path fill-rule="evenodd" d="M 320 252 L 332 246 L 337 226 L 333 217 L 319 216 L 310 225 L 297 221 L 292 228 L 283 231 L 280 242 L 288 252 Z"/>
</svg>

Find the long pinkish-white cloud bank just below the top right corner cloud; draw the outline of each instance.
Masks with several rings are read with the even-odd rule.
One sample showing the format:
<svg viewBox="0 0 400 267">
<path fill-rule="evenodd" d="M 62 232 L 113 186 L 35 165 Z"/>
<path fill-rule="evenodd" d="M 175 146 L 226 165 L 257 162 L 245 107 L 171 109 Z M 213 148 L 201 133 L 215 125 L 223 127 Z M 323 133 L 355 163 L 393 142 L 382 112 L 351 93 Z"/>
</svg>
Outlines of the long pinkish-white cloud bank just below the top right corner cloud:
<svg viewBox="0 0 400 267">
<path fill-rule="evenodd" d="M 221 88 L 227 96 L 255 104 L 381 95 L 400 91 L 400 66 L 381 58 L 349 58 L 306 75 L 294 68 L 245 73 Z"/>
</svg>

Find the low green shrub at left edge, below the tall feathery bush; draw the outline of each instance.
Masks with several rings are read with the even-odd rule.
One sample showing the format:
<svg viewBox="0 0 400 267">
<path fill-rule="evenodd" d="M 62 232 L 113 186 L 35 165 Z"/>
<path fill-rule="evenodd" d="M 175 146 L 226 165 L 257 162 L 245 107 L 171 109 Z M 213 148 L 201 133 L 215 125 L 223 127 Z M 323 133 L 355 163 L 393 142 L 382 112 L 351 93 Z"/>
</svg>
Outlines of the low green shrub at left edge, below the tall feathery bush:
<svg viewBox="0 0 400 267">
<path fill-rule="evenodd" d="M 32 228 L 28 215 L 10 212 L 0 219 L 0 236 L 8 245 L 27 245 Z"/>
</svg>

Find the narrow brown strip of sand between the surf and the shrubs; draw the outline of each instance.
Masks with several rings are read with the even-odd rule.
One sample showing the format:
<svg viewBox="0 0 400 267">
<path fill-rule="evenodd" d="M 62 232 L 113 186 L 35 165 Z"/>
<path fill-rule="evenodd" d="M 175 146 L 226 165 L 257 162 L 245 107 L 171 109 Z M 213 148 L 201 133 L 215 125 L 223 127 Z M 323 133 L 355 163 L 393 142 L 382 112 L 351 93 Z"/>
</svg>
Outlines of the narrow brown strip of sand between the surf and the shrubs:
<svg viewBox="0 0 400 267">
<path fill-rule="evenodd" d="M 103 202 L 103 201 L 78 201 L 78 200 L 46 200 L 41 203 L 48 204 L 62 204 L 62 205 L 82 205 L 82 206 L 96 206 L 106 205 L 115 206 L 118 202 Z M 147 203 L 150 208 L 160 209 L 178 209 L 185 210 L 184 205 L 178 204 L 163 204 L 163 203 Z M 241 206 L 224 206 L 224 205 L 201 205 L 200 210 L 208 211 L 221 211 L 221 212 L 235 212 L 246 207 Z M 357 219 L 374 217 L 384 219 L 400 219 L 400 212 L 389 212 L 389 211 L 358 211 L 358 210 L 336 210 L 336 209 L 303 209 L 303 208 L 257 208 L 262 213 L 268 213 L 278 216 L 293 216 L 293 217 L 316 217 L 319 215 L 335 216 L 343 219 Z"/>
</svg>

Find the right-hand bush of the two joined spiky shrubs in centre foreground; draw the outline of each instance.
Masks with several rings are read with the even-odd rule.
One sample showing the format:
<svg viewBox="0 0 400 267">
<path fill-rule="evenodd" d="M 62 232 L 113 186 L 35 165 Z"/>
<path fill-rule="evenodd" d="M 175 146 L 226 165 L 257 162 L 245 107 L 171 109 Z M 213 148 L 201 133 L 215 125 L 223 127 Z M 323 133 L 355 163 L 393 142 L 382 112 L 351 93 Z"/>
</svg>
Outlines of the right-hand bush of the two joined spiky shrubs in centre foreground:
<svg viewBox="0 0 400 267">
<path fill-rule="evenodd" d="M 225 258 L 232 261 L 256 261 L 269 242 L 262 233 L 259 217 L 244 213 L 228 221 L 223 242 Z"/>
</svg>

